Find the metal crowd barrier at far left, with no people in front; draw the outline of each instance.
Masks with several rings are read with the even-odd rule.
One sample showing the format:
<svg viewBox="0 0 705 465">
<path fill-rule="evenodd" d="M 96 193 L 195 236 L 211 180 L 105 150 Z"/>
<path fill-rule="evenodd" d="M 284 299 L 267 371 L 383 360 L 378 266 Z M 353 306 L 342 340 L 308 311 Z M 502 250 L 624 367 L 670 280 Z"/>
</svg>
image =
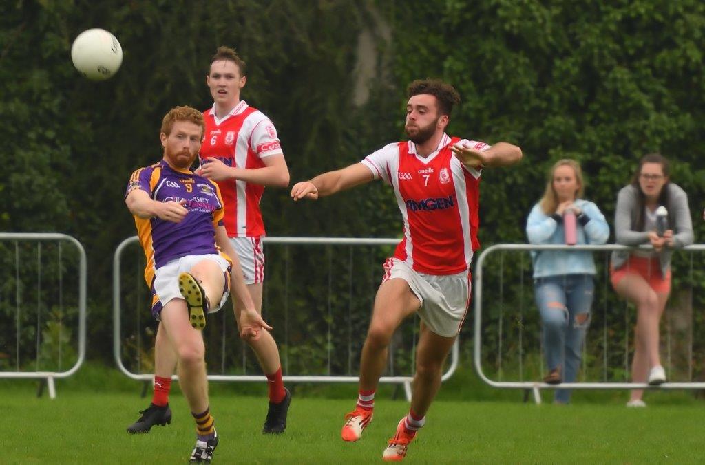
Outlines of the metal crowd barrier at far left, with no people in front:
<svg viewBox="0 0 705 465">
<path fill-rule="evenodd" d="M 78 368 L 83 364 L 85 359 L 86 351 L 86 254 L 83 246 L 75 238 L 65 235 L 65 234 L 54 234 L 54 233 L 0 233 L 0 242 L 2 245 L 8 242 L 14 242 L 13 247 L 4 247 L 4 252 L 2 260 L 4 260 L 3 269 L 9 271 L 13 269 L 13 275 L 8 275 L 4 279 L 2 289 L 0 290 L 0 304 L 2 305 L 4 311 L 13 311 L 15 316 L 15 347 L 4 347 L 0 348 L 0 352 L 3 352 L 3 356 L 6 359 L 10 359 L 9 352 L 15 352 L 15 371 L 0 371 L 0 378 L 36 378 L 45 379 L 47 382 L 47 387 L 49 390 L 49 397 L 54 399 L 56 397 L 56 388 L 54 387 L 54 378 L 68 378 L 68 376 L 73 375 Z M 27 257 L 27 253 L 23 251 L 20 253 L 20 247 L 26 247 L 27 242 L 36 242 L 36 252 L 32 251 L 31 256 Z M 49 245 L 44 245 L 49 242 Z M 52 242 L 56 244 L 56 256 L 58 259 L 56 261 L 51 261 L 49 264 L 43 264 L 47 261 L 47 256 L 50 255 L 49 250 L 51 249 Z M 71 266 L 71 263 L 66 263 L 67 259 L 65 257 L 66 252 L 63 251 L 62 244 L 64 243 L 73 244 L 76 251 L 78 252 L 78 270 L 76 273 L 69 275 L 65 268 Z M 54 267 L 56 268 L 54 270 Z M 48 277 L 44 273 L 44 268 L 49 269 L 52 272 L 52 276 Z M 27 271 L 29 269 L 29 271 Z M 55 272 L 56 274 L 54 274 Z M 27 278 L 27 274 L 32 274 L 32 278 Z M 72 278 L 78 278 L 78 298 L 72 301 L 75 306 L 78 307 L 78 316 L 72 315 L 71 309 L 75 308 L 71 302 L 67 302 L 66 296 L 63 295 L 63 284 L 66 281 L 73 280 Z M 29 282 L 33 281 L 36 287 L 30 287 Z M 35 299 L 24 299 L 25 293 L 32 292 L 32 297 Z M 53 296 L 48 297 L 47 294 L 54 293 Z M 47 302 L 51 302 L 47 304 Z M 23 325 L 27 314 L 30 313 L 31 307 L 36 306 L 36 318 L 32 321 L 32 330 L 27 331 L 27 325 Z M 47 307 L 53 308 L 51 313 L 47 311 Z M 14 307 L 14 308 L 12 308 Z M 56 319 L 50 320 L 53 317 Z M 73 317 L 73 318 L 72 318 Z M 61 365 L 63 364 L 63 357 L 67 354 L 63 354 L 62 350 L 65 352 L 73 351 L 74 348 L 71 345 L 66 344 L 66 349 L 64 347 L 64 339 L 67 336 L 63 331 L 68 331 L 65 328 L 66 321 L 73 323 L 75 318 L 78 318 L 78 352 L 75 354 L 76 360 L 71 368 L 66 371 L 61 371 Z M 51 328 L 49 328 L 49 323 L 51 323 Z M 6 328 L 10 328 L 7 325 Z M 56 334 L 51 334 L 50 336 L 55 338 L 53 341 L 47 341 L 51 343 L 51 349 L 56 351 L 56 356 L 58 357 L 56 371 L 42 369 L 43 366 L 50 364 L 47 359 L 45 359 L 45 348 L 44 340 L 42 340 L 42 335 L 44 331 L 54 330 Z M 29 352 L 35 352 L 35 360 L 31 362 L 25 362 L 29 364 L 34 364 L 35 369 L 33 371 L 23 370 L 26 365 L 23 364 L 20 359 L 23 359 L 22 354 L 27 352 L 27 348 L 22 344 L 23 337 L 25 334 L 35 333 L 35 342 Z M 9 337 L 6 337 L 6 342 Z M 70 349 L 70 350 L 69 350 Z M 29 359 L 30 357 L 24 357 Z M 54 360 L 51 360 L 51 364 L 54 364 Z M 11 366 L 11 363 L 7 363 L 5 366 Z M 0 365 L 1 366 L 1 365 Z"/>
</svg>

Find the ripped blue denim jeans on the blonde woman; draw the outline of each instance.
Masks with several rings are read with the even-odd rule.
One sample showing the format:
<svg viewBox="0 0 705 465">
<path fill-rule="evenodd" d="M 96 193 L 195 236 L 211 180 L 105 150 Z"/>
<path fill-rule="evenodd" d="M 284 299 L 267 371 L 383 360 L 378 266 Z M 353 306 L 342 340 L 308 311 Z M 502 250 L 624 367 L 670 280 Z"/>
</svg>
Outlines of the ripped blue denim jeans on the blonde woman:
<svg viewBox="0 0 705 465">
<path fill-rule="evenodd" d="M 560 367 L 563 383 L 574 382 L 580 369 L 594 289 L 592 275 L 558 275 L 534 280 L 536 304 L 544 328 L 546 364 L 548 371 Z M 555 399 L 568 403 L 570 390 L 557 389 Z"/>
</svg>

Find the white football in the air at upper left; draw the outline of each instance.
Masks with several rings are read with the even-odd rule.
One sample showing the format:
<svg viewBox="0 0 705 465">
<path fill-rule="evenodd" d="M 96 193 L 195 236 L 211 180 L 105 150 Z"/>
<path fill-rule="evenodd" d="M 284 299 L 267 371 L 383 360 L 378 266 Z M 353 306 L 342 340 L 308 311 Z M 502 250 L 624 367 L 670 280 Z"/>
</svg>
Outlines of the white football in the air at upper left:
<svg viewBox="0 0 705 465">
<path fill-rule="evenodd" d="M 123 49 L 114 35 L 104 29 L 81 32 L 71 46 L 73 66 L 94 81 L 106 80 L 120 68 Z"/>
</svg>

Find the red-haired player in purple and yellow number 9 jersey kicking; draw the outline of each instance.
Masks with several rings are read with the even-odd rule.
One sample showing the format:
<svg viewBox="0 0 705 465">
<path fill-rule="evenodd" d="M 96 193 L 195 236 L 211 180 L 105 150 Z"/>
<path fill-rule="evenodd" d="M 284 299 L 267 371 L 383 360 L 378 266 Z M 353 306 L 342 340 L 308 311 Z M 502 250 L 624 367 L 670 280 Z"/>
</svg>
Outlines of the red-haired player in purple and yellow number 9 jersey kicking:
<svg viewBox="0 0 705 465">
<path fill-rule="evenodd" d="M 164 325 L 178 355 L 179 385 L 196 422 L 190 461 L 209 463 L 219 438 L 209 409 L 200 332 L 205 315 L 220 309 L 232 286 L 233 298 L 244 309 L 240 335 L 257 340 L 271 327 L 255 310 L 245 287 L 238 256 L 223 226 L 218 186 L 189 169 L 203 130 L 200 111 L 189 106 L 171 109 L 161 125 L 164 157 L 133 173 L 125 204 L 135 216 L 147 256 L 145 279 L 152 290 L 152 314 Z"/>
</svg>

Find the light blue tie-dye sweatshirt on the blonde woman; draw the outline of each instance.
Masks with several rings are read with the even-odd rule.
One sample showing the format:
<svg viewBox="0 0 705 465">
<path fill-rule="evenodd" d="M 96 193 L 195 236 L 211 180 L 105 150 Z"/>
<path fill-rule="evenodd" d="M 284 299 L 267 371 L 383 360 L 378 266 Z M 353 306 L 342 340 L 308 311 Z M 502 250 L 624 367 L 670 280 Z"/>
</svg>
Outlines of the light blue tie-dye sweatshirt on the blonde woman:
<svg viewBox="0 0 705 465">
<path fill-rule="evenodd" d="M 573 202 L 582 210 L 577 222 L 578 244 L 604 244 L 610 236 L 610 227 L 597 206 L 583 199 Z M 527 236 L 531 244 L 565 244 L 563 221 L 546 215 L 539 204 L 534 205 L 527 219 Z M 587 250 L 543 250 L 532 252 L 534 278 L 566 274 L 595 274 L 592 252 Z"/>
</svg>

